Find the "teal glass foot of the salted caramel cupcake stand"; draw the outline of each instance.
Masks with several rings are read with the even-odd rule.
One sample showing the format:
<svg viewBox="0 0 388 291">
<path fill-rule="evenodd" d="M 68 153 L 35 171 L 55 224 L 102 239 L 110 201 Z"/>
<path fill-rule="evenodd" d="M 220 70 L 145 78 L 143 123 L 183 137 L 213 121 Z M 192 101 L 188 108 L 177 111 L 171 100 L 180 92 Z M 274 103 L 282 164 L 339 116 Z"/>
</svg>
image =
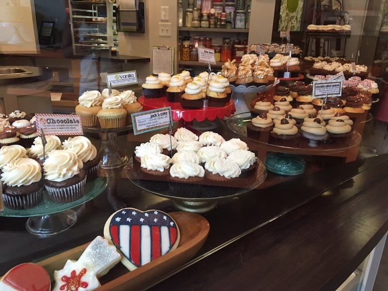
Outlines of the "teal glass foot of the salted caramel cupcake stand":
<svg viewBox="0 0 388 291">
<path fill-rule="evenodd" d="M 306 163 L 298 155 L 270 153 L 266 158 L 267 171 L 283 176 L 297 176 L 306 170 Z"/>
</svg>

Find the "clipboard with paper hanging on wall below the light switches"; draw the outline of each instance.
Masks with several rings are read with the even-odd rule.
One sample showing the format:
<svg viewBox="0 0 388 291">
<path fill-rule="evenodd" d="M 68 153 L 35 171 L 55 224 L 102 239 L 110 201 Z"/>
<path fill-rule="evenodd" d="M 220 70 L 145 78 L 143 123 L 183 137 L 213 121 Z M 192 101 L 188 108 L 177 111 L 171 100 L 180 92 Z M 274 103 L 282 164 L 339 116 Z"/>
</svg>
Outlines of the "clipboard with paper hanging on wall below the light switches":
<svg viewBox="0 0 388 291">
<path fill-rule="evenodd" d="M 152 74 L 174 74 L 174 48 L 168 46 L 154 46 L 152 50 Z"/>
</svg>

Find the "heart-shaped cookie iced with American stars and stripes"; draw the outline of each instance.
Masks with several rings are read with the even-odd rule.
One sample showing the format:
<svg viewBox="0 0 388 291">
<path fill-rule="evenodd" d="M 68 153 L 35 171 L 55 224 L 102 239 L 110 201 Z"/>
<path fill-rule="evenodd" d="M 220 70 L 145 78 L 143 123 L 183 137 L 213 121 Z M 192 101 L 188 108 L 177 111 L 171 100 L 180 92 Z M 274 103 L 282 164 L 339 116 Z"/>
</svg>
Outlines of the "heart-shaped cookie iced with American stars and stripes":
<svg viewBox="0 0 388 291">
<path fill-rule="evenodd" d="M 104 237 L 123 255 L 121 263 L 130 271 L 178 247 L 177 223 L 160 210 L 123 208 L 114 212 L 104 226 Z"/>
</svg>

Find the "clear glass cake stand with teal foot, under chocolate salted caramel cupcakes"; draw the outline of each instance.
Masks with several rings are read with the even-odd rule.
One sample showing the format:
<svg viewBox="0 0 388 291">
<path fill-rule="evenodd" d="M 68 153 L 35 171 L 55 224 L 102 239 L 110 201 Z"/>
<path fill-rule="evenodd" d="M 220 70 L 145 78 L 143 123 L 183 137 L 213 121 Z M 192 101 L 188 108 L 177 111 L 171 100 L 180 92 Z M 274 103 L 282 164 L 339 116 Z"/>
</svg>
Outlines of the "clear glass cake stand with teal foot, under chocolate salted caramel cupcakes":
<svg viewBox="0 0 388 291">
<path fill-rule="evenodd" d="M 251 113 L 244 112 L 229 117 L 226 121 L 228 128 L 241 137 L 247 137 L 247 125 L 251 122 Z M 331 156 L 348 151 L 360 145 L 361 135 L 353 130 L 352 137 L 346 142 L 323 143 L 300 138 L 293 146 L 275 142 L 264 142 L 248 138 L 256 142 L 261 148 L 270 153 L 266 158 L 268 171 L 275 174 L 294 176 L 302 174 L 305 163 L 298 155 Z"/>
</svg>

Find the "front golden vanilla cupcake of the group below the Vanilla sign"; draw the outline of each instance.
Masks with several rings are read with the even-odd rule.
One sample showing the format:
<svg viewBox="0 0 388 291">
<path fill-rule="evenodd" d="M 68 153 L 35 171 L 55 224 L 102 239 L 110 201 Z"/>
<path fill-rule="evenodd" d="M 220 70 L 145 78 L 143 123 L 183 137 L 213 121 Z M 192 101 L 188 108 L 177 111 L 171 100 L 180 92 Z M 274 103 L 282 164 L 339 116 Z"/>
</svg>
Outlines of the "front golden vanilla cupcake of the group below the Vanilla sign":
<svg viewBox="0 0 388 291">
<path fill-rule="evenodd" d="M 125 126 L 127 110 L 122 107 L 121 97 L 113 96 L 104 99 L 97 117 L 101 128 L 119 128 Z"/>
</svg>

